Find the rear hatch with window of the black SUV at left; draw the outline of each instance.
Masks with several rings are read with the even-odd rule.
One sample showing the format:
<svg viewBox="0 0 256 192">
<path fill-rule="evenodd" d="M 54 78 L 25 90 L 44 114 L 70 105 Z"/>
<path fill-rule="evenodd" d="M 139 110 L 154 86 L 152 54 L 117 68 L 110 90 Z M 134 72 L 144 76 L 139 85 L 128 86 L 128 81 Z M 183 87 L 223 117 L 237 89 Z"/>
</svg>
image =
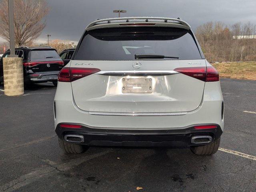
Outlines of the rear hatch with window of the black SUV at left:
<svg viewBox="0 0 256 192">
<path fill-rule="evenodd" d="M 27 65 L 34 73 L 60 71 L 64 66 L 60 56 L 52 48 L 32 49 L 29 58 L 30 62 Z"/>
</svg>

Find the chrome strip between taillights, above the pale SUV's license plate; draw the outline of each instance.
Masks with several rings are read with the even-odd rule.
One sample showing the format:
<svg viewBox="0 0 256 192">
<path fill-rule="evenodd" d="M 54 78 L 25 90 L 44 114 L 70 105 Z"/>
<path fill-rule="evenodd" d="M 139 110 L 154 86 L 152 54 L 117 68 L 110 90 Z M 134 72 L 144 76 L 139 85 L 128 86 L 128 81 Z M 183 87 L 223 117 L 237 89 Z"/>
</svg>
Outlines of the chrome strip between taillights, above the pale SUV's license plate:
<svg viewBox="0 0 256 192">
<path fill-rule="evenodd" d="M 172 75 L 177 74 L 174 70 L 147 70 L 147 71 L 99 71 L 101 75 Z"/>
</svg>

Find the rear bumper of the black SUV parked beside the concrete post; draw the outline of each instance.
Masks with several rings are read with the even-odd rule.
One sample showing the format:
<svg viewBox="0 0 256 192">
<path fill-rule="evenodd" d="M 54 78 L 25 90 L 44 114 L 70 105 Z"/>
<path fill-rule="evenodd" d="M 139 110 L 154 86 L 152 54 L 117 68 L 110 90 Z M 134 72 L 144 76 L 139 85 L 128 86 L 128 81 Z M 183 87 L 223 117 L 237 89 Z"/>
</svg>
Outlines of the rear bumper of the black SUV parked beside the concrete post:
<svg viewBox="0 0 256 192">
<path fill-rule="evenodd" d="M 33 83 L 44 83 L 58 81 L 59 71 L 54 72 L 42 72 L 29 74 L 27 78 Z"/>
</svg>

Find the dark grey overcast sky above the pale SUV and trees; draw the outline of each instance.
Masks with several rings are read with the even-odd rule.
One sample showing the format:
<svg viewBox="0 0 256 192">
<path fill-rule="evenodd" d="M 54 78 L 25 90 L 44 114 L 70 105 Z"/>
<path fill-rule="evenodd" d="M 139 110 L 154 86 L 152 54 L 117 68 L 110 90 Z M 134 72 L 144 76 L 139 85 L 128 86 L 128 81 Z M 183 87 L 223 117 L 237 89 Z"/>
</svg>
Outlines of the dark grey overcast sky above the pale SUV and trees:
<svg viewBox="0 0 256 192">
<path fill-rule="evenodd" d="M 51 7 L 38 42 L 51 39 L 77 42 L 84 28 L 97 18 L 121 16 L 181 17 L 192 29 L 208 21 L 225 24 L 248 21 L 256 24 L 256 0 L 48 0 Z"/>
</svg>

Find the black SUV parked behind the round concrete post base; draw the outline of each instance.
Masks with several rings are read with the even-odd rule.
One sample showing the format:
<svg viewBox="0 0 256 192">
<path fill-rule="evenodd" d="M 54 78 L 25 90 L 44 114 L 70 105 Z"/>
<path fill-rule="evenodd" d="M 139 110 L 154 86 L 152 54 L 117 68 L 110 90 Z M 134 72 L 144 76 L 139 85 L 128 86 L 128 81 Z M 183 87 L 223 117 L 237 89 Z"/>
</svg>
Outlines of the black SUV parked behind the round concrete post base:
<svg viewBox="0 0 256 192">
<path fill-rule="evenodd" d="M 7 50 L 0 59 L 0 82 L 3 82 L 3 58 L 10 54 Z M 58 83 L 58 74 L 64 67 L 64 62 L 52 47 L 15 48 L 15 54 L 23 58 L 24 84 L 52 82 Z"/>
</svg>

